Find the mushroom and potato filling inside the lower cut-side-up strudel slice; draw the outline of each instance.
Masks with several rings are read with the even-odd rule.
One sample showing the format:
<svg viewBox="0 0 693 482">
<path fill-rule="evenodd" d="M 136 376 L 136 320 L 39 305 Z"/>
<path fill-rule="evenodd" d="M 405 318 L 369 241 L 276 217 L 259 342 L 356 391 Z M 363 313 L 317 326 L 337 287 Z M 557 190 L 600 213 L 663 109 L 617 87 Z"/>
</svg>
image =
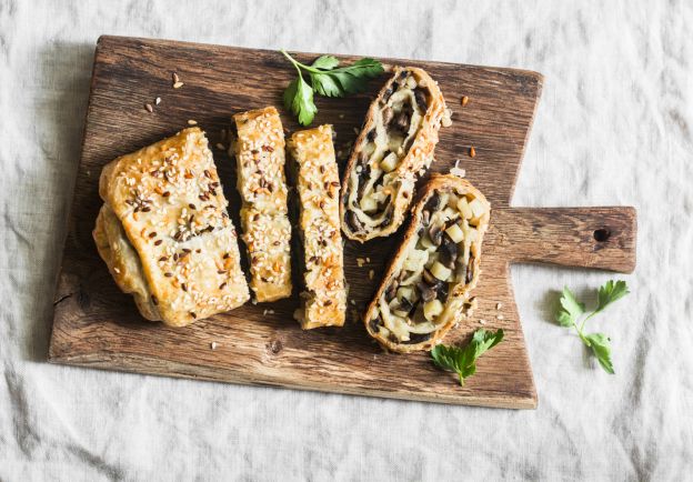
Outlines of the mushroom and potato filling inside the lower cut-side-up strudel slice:
<svg viewBox="0 0 693 482">
<path fill-rule="evenodd" d="M 455 314 L 459 307 L 449 304 L 449 297 L 474 278 L 474 242 L 484 213 L 479 200 L 456 192 L 436 192 L 429 199 L 420 229 L 398 257 L 369 322 L 373 333 L 394 343 L 420 343 Z"/>
</svg>

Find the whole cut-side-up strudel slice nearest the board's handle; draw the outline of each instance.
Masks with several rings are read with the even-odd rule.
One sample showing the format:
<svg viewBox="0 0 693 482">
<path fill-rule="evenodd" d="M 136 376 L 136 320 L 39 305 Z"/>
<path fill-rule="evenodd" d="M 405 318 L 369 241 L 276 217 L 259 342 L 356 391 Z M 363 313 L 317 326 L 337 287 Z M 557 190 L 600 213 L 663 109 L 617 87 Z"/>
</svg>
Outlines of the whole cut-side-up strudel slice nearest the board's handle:
<svg viewBox="0 0 693 482">
<path fill-rule="evenodd" d="M 461 178 L 434 174 L 424 185 L 363 314 L 368 333 L 382 347 L 431 350 L 470 315 L 490 211 L 484 195 Z"/>
</svg>

